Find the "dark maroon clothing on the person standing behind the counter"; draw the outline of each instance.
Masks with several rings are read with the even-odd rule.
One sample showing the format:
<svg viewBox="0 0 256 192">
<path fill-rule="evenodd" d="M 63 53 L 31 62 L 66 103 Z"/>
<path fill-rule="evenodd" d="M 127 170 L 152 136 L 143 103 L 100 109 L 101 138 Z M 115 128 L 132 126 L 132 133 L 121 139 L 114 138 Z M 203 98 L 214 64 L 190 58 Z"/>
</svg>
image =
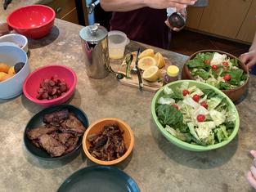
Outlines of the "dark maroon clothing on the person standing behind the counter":
<svg viewBox="0 0 256 192">
<path fill-rule="evenodd" d="M 127 12 L 113 12 L 110 29 L 123 31 L 129 39 L 137 42 L 166 49 L 170 40 L 170 29 L 164 24 L 166 18 L 165 9 L 149 7 Z"/>
</svg>

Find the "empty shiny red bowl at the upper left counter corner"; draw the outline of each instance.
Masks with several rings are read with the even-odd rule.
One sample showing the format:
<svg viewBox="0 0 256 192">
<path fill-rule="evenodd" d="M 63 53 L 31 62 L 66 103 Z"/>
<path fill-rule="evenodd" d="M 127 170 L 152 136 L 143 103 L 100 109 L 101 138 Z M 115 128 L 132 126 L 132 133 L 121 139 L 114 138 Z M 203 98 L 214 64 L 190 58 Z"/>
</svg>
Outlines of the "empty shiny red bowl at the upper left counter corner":
<svg viewBox="0 0 256 192">
<path fill-rule="evenodd" d="M 55 11 L 43 5 L 29 5 L 12 11 L 7 23 L 18 33 L 29 38 L 43 38 L 54 24 Z"/>
</svg>

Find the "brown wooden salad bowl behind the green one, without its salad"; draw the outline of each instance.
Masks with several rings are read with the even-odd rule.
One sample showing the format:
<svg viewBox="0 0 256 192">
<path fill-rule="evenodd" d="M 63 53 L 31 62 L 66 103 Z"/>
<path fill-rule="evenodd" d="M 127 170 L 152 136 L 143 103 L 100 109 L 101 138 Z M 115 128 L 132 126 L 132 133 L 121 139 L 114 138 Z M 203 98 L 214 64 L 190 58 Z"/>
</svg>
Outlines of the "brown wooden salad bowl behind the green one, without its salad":
<svg viewBox="0 0 256 192">
<path fill-rule="evenodd" d="M 197 52 L 193 53 L 188 58 L 188 60 L 193 59 L 198 53 L 202 53 L 202 52 L 218 52 L 218 53 L 221 53 L 221 54 L 226 54 L 231 59 L 234 58 L 234 59 L 238 60 L 238 64 L 240 66 L 240 69 L 243 69 L 245 71 L 245 73 L 249 75 L 249 70 L 248 70 L 247 66 L 244 63 L 242 63 L 236 56 L 233 56 L 233 55 L 231 55 L 227 52 L 224 52 L 224 51 L 218 51 L 218 50 L 197 51 Z M 186 60 L 186 63 L 187 63 L 188 60 Z M 192 75 L 191 75 L 190 69 L 186 66 L 186 63 L 182 68 L 182 79 L 195 80 L 195 78 L 193 78 Z M 248 86 L 249 86 L 249 78 L 247 78 L 247 80 L 245 81 L 245 84 L 243 84 L 242 86 L 236 87 L 235 89 L 222 90 L 222 92 L 224 92 L 232 101 L 236 101 L 240 98 L 240 96 L 242 96 L 245 93 Z"/>
</svg>

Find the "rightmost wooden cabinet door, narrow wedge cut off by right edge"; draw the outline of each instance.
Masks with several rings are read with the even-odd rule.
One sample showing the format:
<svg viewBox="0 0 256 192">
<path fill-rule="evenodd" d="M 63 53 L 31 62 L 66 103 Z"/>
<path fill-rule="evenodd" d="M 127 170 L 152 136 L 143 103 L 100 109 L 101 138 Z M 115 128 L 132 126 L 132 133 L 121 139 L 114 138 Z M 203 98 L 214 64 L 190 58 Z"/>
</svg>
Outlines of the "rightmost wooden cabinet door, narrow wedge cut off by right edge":
<svg viewBox="0 0 256 192">
<path fill-rule="evenodd" d="M 256 33 L 256 0 L 253 0 L 244 23 L 236 38 L 244 42 L 252 42 Z"/>
</svg>

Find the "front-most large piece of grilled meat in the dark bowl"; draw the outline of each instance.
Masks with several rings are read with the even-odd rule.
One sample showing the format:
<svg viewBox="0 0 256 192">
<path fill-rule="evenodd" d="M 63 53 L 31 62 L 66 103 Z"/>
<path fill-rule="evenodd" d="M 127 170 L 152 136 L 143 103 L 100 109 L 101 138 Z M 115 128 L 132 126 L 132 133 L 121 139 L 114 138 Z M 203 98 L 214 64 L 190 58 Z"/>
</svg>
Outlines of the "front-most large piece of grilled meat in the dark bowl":
<svg viewBox="0 0 256 192">
<path fill-rule="evenodd" d="M 47 153 L 51 154 L 52 157 L 59 157 L 67 150 L 65 145 L 50 135 L 39 136 L 38 140 L 43 149 L 47 150 Z"/>
</svg>

